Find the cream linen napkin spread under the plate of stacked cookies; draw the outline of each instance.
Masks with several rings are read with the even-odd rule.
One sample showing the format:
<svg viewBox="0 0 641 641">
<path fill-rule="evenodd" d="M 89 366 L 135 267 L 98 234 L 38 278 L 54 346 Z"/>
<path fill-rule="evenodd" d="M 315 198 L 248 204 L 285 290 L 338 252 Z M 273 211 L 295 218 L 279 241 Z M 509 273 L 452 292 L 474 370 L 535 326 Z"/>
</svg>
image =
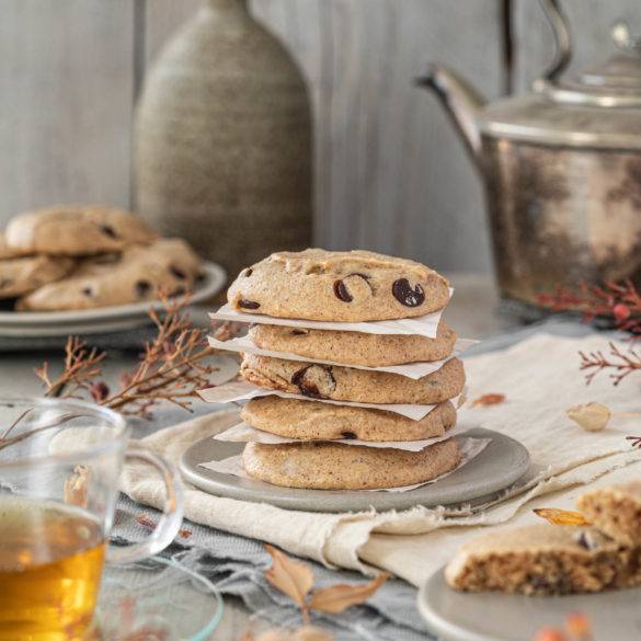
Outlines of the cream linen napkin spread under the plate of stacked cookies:
<svg viewBox="0 0 641 641">
<path fill-rule="evenodd" d="M 613 470 L 618 471 L 606 476 L 604 482 L 609 482 L 610 476 L 621 479 L 641 473 L 641 451 L 625 439 L 629 434 L 641 435 L 639 422 L 613 420 L 605 431 L 588 433 L 565 416 L 570 405 L 591 401 L 616 411 L 638 409 L 639 381 L 634 376 L 614 387 L 604 373 L 586 387 L 579 371 L 577 352 L 603 350 L 606 342 L 603 334 L 575 339 L 538 333 L 507 350 L 465 359 L 470 401 L 459 410 L 461 421 L 473 421 L 520 440 L 533 460 L 525 481 L 491 504 L 322 514 L 213 496 L 187 487 L 185 516 L 328 565 L 366 573 L 371 566 L 382 568 L 420 585 L 481 527 L 534 518 L 529 508 L 535 504 L 568 505 L 577 485 Z M 484 393 L 503 393 L 505 401 L 473 407 L 471 401 Z M 225 410 L 162 430 L 140 443 L 178 461 L 192 443 L 238 421 L 238 410 Z M 126 469 L 123 491 L 134 501 L 162 506 L 162 483 L 144 465 Z"/>
</svg>

